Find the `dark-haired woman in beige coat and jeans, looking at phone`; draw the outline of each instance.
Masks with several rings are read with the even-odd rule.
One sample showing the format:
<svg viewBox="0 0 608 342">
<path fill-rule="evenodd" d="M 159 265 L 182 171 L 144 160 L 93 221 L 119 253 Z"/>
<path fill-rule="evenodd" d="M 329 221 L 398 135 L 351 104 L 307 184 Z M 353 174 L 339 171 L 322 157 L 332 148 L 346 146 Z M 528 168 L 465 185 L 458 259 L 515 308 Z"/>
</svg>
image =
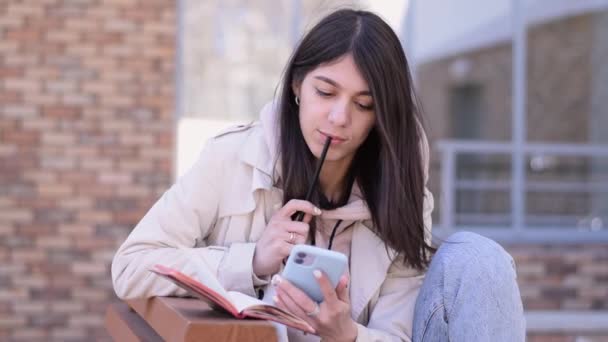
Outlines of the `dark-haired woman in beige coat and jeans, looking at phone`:
<svg viewBox="0 0 608 342">
<path fill-rule="evenodd" d="M 208 142 L 135 227 L 112 264 L 118 296 L 183 295 L 148 271 L 160 263 L 195 278 L 200 269 L 211 270 L 227 290 L 273 300 L 318 336 L 279 331 L 289 341 L 520 339 L 521 301 L 504 250 L 459 234 L 451 240 L 464 243 L 442 246 L 429 268 L 436 251 L 433 197 L 425 187 L 428 145 L 417 115 L 407 61 L 390 27 L 365 11 L 330 14 L 294 51 L 278 99 L 262 110 L 260 122 Z M 302 198 L 327 137 L 332 144 L 307 202 Z M 298 211 L 302 222 L 292 221 Z M 336 289 L 320 274 L 320 305 L 276 276 L 301 243 L 349 258 Z M 451 273 L 454 259 L 468 272 Z M 485 264 L 497 267 L 500 284 L 465 284 Z M 478 291 L 483 312 L 463 300 L 465 291 L 454 294 L 459 284 Z M 485 322 L 497 312 L 512 317 Z M 477 327 L 482 324 L 489 328 Z"/>
</svg>

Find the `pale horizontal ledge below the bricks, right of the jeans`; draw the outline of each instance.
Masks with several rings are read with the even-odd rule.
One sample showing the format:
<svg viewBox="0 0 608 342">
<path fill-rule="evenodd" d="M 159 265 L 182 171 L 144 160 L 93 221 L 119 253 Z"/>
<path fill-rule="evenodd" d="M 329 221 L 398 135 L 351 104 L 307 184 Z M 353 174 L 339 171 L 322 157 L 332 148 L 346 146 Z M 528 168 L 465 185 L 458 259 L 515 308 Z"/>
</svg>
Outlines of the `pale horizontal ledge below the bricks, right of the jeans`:
<svg viewBox="0 0 608 342">
<path fill-rule="evenodd" d="M 527 311 L 530 333 L 607 333 L 608 311 Z"/>
</svg>

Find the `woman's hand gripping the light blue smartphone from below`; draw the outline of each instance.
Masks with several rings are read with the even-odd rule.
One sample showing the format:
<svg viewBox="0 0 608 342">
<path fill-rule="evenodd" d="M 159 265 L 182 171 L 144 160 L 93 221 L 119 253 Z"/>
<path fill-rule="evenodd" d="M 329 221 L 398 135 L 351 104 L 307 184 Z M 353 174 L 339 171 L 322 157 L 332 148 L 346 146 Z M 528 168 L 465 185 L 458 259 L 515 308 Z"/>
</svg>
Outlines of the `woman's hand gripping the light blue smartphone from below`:
<svg viewBox="0 0 608 342">
<path fill-rule="evenodd" d="M 273 278 L 277 289 L 274 298 L 276 305 L 306 320 L 323 341 L 355 341 L 357 324 L 350 316 L 348 276 L 342 276 L 334 290 L 325 274 L 318 270 L 314 272 L 323 293 L 324 300 L 321 304 L 276 275 Z"/>
</svg>

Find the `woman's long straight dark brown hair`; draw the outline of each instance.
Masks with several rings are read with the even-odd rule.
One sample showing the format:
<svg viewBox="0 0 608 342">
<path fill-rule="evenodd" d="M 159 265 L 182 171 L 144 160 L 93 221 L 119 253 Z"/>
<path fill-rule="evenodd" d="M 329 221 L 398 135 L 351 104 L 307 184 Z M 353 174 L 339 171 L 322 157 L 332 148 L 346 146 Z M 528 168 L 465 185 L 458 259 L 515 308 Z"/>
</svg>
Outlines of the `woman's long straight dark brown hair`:
<svg viewBox="0 0 608 342">
<path fill-rule="evenodd" d="M 348 200 L 356 181 L 371 212 L 374 232 L 404 262 L 424 269 L 435 249 L 424 238 L 423 132 L 399 39 L 371 12 L 342 9 L 326 16 L 302 38 L 286 66 L 278 98 L 283 201 L 305 197 L 316 163 L 302 135 L 292 84 L 348 53 L 370 87 L 376 124 L 356 152 L 344 182 L 346 196 L 340 202 Z M 317 187 L 312 202 L 319 205 L 323 198 Z M 314 234 L 312 223 L 309 237 Z"/>
</svg>

